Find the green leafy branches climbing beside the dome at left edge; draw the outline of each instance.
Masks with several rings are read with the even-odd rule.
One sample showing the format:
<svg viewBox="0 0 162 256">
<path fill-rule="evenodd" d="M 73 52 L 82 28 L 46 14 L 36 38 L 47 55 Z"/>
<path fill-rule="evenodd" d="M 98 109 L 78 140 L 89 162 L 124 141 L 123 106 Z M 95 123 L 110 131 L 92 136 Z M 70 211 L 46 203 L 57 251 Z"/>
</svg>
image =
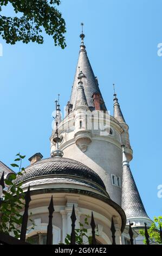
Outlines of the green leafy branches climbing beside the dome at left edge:
<svg viewBox="0 0 162 256">
<path fill-rule="evenodd" d="M 21 184 L 15 185 L 15 179 L 18 175 L 23 175 L 25 171 L 22 166 L 22 159 L 25 156 L 20 154 L 16 155 L 15 163 L 12 163 L 12 167 L 18 168 L 18 173 L 12 173 L 8 179 L 5 179 L 5 184 L 9 186 L 8 192 L 4 195 L 4 200 L 1 203 L 0 209 L 0 231 L 4 233 L 13 232 L 15 237 L 20 237 L 20 227 L 22 224 L 22 215 L 20 211 L 23 209 L 24 192 L 21 188 Z M 20 164 L 17 164 L 17 163 Z"/>
</svg>

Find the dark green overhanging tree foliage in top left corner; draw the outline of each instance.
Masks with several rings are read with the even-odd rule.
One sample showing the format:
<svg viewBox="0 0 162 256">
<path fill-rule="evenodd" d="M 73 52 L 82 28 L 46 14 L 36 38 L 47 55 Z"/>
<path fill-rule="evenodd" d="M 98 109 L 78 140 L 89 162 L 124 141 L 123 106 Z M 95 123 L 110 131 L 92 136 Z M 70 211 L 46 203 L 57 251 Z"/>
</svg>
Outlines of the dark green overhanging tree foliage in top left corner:
<svg viewBox="0 0 162 256">
<path fill-rule="evenodd" d="M 0 15 L 0 35 L 8 44 L 17 41 L 43 44 L 42 29 L 53 36 L 54 44 L 66 47 L 63 34 L 66 32 L 65 21 L 56 6 L 60 0 L 1 0 L 2 7 L 11 4 L 15 17 Z"/>
</svg>

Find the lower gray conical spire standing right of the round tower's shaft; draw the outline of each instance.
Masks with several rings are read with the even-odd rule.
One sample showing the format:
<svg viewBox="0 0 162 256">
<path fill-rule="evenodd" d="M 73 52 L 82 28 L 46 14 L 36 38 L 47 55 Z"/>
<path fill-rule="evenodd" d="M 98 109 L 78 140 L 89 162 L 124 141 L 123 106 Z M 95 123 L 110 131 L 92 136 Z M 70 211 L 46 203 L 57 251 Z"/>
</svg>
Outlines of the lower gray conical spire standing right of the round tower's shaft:
<svg viewBox="0 0 162 256">
<path fill-rule="evenodd" d="M 124 145 L 122 147 L 122 198 L 121 207 L 125 211 L 127 218 L 145 217 L 146 214 L 144 205 L 140 198 L 138 188 L 135 185 L 129 163 L 126 159 Z"/>
</svg>

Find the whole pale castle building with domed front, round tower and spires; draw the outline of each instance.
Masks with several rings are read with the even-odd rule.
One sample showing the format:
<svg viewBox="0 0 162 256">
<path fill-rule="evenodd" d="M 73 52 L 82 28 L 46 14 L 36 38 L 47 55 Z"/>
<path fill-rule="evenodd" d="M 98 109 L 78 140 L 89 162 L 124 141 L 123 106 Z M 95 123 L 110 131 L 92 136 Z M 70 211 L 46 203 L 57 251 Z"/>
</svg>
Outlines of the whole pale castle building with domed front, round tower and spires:
<svg viewBox="0 0 162 256">
<path fill-rule="evenodd" d="M 110 115 L 99 89 L 98 79 L 90 65 L 83 32 L 70 100 L 66 116 L 61 118 L 59 101 L 56 103 L 54 129 L 50 137 L 51 152 L 47 159 L 40 153 L 31 156 L 30 165 L 16 184 L 23 191 L 30 186 L 31 220 L 28 237 L 43 242 L 48 225 L 48 204 L 54 198 L 53 243 L 64 243 L 71 231 L 73 205 L 76 228 L 85 215 L 93 211 L 99 235 L 98 243 L 112 244 L 112 219 L 117 244 L 126 243 L 127 221 L 137 230 L 144 221 L 151 223 L 141 202 L 129 162 L 132 149 L 128 125 L 122 115 L 114 92 L 114 115 Z M 125 144 L 121 148 L 121 144 Z M 123 208 L 123 209 L 122 209 Z M 88 218 L 89 221 L 89 218 Z M 33 227 L 33 225 L 32 225 Z M 126 228 L 125 228 L 126 227 Z M 88 235 L 92 235 L 90 223 Z M 134 237 L 138 234 L 134 231 Z M 135 241 L 134 241 L 135 242 Z"/>
</svg>

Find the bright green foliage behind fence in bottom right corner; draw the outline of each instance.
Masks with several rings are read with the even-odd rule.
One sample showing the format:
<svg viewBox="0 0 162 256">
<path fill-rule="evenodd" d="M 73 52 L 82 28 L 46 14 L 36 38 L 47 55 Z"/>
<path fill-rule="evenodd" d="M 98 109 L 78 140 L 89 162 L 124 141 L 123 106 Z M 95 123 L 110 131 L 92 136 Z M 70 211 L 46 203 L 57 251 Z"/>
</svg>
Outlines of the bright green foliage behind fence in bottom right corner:
<svg viewBox="0 0 162 256">
<path fill-rule="evenodd" d="M 150 236 L 150 243 L 159 243 L 162 244 L 160 239 L 160 225 L 162 228 L 162 216 L 154 217 L 154 222 L 151 224 L 151 227 L 148 229 L 148 235 Z M 139 234 L 145 236 L 145 230 L 140 230 Z M 144 239 L 144 243 L 146 244 L 146 239 Z"/>
</svg>

